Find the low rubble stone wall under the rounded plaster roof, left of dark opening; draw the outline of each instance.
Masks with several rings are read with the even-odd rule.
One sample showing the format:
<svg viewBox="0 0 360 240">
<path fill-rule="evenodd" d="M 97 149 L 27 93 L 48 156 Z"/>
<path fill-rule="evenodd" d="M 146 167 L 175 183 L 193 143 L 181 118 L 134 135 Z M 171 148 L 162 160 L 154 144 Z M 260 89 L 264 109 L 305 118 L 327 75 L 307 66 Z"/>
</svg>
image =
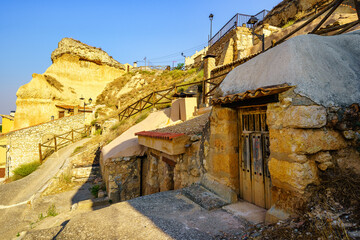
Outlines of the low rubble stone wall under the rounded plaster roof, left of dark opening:
<svg viewBox="0 0 360 240">
<path fill-rule="evenodd" d="M 141 196 L 141 161 L 136 156 L 113 158 L 106 162 L 100 158 L 102 178 L 113 202 Z"/>
</svg>

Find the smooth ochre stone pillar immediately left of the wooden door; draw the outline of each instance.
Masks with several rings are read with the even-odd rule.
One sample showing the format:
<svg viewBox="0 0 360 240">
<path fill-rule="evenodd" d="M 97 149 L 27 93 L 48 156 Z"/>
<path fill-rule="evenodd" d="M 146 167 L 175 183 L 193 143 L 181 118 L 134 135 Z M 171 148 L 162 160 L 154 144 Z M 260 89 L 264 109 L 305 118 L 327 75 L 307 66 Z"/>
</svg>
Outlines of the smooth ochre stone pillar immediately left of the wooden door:
<svg viewBox="0 0 360 240">
<path fill-rule="evenodd" d="M 213 106 L 203 184 L 229 202 L 235 202 L 239 194 L 238 142 L 236 109 Z"/>
</svg>

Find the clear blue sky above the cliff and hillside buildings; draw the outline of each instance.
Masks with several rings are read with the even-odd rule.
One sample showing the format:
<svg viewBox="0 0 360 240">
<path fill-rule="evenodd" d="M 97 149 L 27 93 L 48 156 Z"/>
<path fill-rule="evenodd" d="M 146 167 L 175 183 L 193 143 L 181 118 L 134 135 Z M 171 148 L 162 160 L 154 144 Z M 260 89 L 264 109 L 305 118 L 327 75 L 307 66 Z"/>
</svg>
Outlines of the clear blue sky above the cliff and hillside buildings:
<svg viewBox="0 0 360 240">
<path fill-rule="evenodd" d="M 256 14 L 279 2 L 0 0 L 0 113 L 15 110 L 17 89 L 46 71 L 64 37 L 101 47 L 121 63 L 147 57 L 170 65 L 183 62 L 183 50 L 191 55 L 207 45 L 210 13 L 215 34 L 236 13 Z"/>
</svg>

